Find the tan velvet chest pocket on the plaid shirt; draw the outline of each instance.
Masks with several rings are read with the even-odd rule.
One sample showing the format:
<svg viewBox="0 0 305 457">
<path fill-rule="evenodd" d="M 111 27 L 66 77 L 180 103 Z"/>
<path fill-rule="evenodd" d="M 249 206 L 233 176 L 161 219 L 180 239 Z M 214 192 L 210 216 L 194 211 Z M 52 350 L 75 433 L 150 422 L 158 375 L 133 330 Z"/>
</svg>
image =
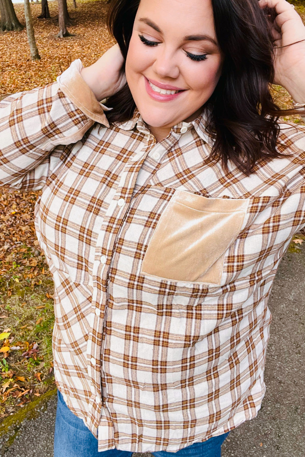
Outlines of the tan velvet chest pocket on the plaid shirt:
<svg viewBox="0 0 305 457">
<path fill-rule="evenodd" d="M 243 225 L 249 200 L 176 191 L 162 213 L 142 262 L 149 276 L 220 285 L 225 252 Z"/>
</svg>

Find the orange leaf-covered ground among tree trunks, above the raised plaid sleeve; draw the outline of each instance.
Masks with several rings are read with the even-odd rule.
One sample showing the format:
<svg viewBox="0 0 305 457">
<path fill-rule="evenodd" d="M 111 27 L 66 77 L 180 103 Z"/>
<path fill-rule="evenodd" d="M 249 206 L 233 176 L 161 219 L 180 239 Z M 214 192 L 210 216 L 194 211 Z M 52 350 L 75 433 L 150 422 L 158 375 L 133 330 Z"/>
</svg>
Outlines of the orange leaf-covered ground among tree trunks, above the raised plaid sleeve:
<svg viewBox="0 0 305 457">
<path fill-rule="evenodd" d="M 51 19 L 36 19 L 41 5 L 31 3 L 37 48 L 41 60 L 32 61 L 27 32 L 0 33 L 0 96 L 28 90 L 56 80 L 76 58 L 85 66 L 93 63 L 114 43 L 107 32 L 105 18 L 107 4 L 101 0 L 76 0 L 74 9 L 68 0 L 73 25 L 68 27 L 74 37 L 56 38 L 57 1 L 49 1 Z M 15 4 L 19 21 L 25 24 L 23 4 Z"/>
</svg>

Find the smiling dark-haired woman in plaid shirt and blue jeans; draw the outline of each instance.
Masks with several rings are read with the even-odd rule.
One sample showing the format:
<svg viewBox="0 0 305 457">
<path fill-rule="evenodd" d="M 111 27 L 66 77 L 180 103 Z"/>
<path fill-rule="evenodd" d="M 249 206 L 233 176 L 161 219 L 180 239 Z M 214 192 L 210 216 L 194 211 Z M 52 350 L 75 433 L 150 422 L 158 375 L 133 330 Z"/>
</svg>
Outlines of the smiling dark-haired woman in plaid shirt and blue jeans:
<svg viewBox="0 0 305 457">
<path fill-rule="evenodd" d="M 304 128 L 279 131 L 268 89 L 305 102 L 305 27 L 285 0 L 113 0 L 108 21 L 119 47 L 0 105 L 1 184 L 43 190 L 54 453 L 220 456 L 260 408 L 305 225 Z"/>
</svg>

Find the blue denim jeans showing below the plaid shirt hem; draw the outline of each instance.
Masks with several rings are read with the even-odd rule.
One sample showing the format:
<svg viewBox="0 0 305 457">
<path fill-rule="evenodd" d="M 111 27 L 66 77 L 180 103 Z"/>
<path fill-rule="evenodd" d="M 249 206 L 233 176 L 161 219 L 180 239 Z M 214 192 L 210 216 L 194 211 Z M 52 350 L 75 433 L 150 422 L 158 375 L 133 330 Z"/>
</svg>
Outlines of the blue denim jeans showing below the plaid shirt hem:
<svg viewBox="0 0 305 457">
<path fill-rule="evenodd" d="M 110 449 L 98 452 L 97 439 L 84 422 L 73 414 L 58 390 L 54 457 L 131 457 L 133 452 Z M 229 433 L 194 443 L 177 452 L 153 452 L 155 457 L 220 457 L 221 445 Z"/>
</svg>

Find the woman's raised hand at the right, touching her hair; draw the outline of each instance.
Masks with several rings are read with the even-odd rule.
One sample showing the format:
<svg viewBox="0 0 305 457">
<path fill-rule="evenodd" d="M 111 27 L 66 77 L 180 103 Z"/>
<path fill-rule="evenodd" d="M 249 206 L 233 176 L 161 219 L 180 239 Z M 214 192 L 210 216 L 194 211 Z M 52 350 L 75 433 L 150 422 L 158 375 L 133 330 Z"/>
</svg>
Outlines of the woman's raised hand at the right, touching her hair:
<svg viewBox="0 0 305 457">
<path fill-rule="evenodd" d="M 261 8 L 274 8 L 270 24 L 274 39 L 274 84 L 285 87 L 295 101 L 305 103 L 305 26 L 286 0 L 259 0 Z M 298 43 L 296 43 L 298 42 Z M 294 43 L 294 44 L 292 44 Z"/>
</svg>

